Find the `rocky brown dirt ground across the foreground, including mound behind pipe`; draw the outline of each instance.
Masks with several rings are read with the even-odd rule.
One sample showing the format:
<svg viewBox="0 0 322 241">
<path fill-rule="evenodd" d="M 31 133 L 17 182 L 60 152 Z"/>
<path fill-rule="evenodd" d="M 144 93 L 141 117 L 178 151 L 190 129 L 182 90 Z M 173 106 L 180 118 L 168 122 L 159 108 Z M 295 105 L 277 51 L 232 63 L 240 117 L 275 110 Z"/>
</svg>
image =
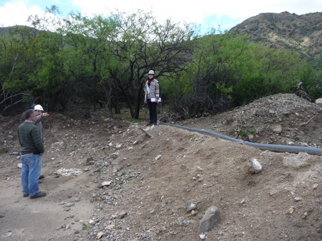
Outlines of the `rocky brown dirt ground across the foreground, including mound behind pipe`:
<svg viewBox="0 0 322 241">
<path fill-rule="evenodd" d="M 296 95 L 277 94 L 176 124 L 319 147 L 321 113 Z M 261 151 L 164 125 L 146 129 L 101 113 L 90 119 L 51 113 L 43 123 L 40 184 L 48 195 L 30 200 L 22 198 L 19 159 L 9 155 L 19 150 L 19 122 L 13 117 L 2 123 L 1 138 L 13 136 L 3 143 L 8 153 L 0 154 L 4 240 L 200 240 L 200 219 L 213 205 L 220 219 L 206 240 L 322 238 L 320 156 Z M 254 158 L 262 165 L 257 174 L 248 169 Z M 55 174 L 72 167 L 82 173 Z M 194 212 L 187 212 L 189 201 Z"/>
</svg>

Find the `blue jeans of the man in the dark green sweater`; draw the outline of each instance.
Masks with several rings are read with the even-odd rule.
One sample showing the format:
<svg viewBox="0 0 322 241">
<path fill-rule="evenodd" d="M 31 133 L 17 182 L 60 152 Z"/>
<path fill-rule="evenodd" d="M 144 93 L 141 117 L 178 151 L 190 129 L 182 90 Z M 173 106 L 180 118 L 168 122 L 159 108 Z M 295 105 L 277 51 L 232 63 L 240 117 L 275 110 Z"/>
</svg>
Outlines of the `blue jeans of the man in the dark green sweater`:
<svg viewBox="0 0 322 241">
<path fill-rule="evenodd" d="M 32 155 L 31 157 L 20 158 L 21 167 L 21 185 L 22 193 L 34 196 L 39 192 L 38 184 L 38 169 L 41 157 L 39 155 Z"/>
</svg>

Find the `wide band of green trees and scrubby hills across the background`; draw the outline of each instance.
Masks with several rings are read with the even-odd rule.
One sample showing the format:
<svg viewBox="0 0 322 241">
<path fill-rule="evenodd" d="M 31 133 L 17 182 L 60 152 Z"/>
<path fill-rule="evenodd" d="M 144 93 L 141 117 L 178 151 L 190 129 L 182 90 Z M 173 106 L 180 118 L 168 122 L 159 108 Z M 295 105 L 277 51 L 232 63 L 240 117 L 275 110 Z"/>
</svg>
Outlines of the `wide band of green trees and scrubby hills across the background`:
<svg viewBox="0 0 322 241">
<path fill-rule="evenodd" d="M 138 119 L 150 69 L 173 119 L 292 93 L 300 82 L 314 102 L 322 95 L 320 18 L 263 13 L 229 32 L 198 36 L 192 23 L 159 23 L 145 11 L 108 17 L 71 13 L 61 21 L 33 16 L 32 27 L 0 35 L 0 115 L 37 103 L 85 117 L 92 106 L 104 106 L 109 118 L 126 107 Z"/>
</svg>

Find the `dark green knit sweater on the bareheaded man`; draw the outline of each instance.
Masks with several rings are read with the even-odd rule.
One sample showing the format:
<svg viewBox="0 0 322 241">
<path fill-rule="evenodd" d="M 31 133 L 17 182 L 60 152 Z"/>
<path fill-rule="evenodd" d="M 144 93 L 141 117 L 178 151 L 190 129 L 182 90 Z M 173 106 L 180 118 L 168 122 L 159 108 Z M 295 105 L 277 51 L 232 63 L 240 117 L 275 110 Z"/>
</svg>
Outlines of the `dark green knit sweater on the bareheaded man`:
<svg viewBox="0 0 322 241">
<path fill-rule="evenodd" d="M 18 127 L 18 137 L 21 146 L 21 155 L 29 153 L 39 155 L 44 152 L 39 129 L 34 123 L 22 123 Z"/>
</svg>

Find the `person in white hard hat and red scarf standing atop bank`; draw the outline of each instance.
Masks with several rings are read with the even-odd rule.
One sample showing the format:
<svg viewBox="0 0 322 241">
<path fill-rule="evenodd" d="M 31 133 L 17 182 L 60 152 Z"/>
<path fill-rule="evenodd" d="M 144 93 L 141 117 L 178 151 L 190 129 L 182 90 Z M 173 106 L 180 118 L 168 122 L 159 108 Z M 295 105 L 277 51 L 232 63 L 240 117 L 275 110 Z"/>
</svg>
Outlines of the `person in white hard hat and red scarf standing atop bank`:
<svg viewBox="0 0 322 241">
<path fill-rule="evenodd" d="M 159 101 L 159 82 L 154 78 L 154 71 L 148 73 L 148 80 L 144 86 L 144 103 L 148 105 L 150 113 L 150 122 L 147 126 L 157 125 L 156 105 Z"/>
</svg>

